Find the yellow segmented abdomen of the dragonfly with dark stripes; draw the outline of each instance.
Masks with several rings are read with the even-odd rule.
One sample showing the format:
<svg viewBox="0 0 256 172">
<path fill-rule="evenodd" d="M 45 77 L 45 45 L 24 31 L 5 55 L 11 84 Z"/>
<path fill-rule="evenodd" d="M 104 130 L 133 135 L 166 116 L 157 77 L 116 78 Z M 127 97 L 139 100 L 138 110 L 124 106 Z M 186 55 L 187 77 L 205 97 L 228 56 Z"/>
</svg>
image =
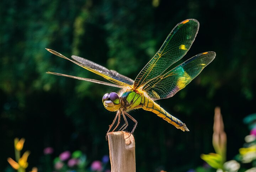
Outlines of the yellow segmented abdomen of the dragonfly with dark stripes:
<svg viewBox="0 0 256 172">
<path fill-rule="evenodd" d="M 142 105 L 142 108 L 147 111 L 151 111 L 164 119 L 165 121 L 169 122 L 170 124 L 174 125 L 176 128 L 182 130 L 182 131 L 189 131 L 186 124 L 181 122 L 181 120 L 177 119 L 176 117 L 170 115 L 167 111 L 165 111 L 163 108 L 160 107 L 159 104 L 155 103 L 151 99 L 148 99 L 147 97 L 143 96 L 144 103 Z"/>
</svg>

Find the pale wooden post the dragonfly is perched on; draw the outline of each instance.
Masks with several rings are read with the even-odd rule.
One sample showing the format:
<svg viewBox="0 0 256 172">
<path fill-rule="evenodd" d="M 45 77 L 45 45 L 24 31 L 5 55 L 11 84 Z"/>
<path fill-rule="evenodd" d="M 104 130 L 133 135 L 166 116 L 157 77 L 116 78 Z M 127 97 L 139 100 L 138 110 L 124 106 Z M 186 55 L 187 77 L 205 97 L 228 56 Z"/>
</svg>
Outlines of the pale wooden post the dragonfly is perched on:
<svg viewBox="0 0 256 172">
<path fill-rule="evenodd" d="M 110 132 L 107 136 L 111 172 L 135 172 L 135 141 L 133 135 L 118 131 Z"/>
</svg>

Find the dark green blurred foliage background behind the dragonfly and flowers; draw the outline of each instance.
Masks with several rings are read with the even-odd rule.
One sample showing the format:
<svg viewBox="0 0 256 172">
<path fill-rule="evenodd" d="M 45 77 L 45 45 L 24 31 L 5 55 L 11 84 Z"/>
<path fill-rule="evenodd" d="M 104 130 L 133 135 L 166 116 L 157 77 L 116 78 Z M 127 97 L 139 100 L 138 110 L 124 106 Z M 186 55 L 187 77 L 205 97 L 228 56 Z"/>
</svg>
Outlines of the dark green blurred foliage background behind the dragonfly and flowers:
<svg viewBox="0 0 256 172">
<path fill-rule="evenodd" d="M 11 171 L 6 159 L 15 156 L 15 137 L 25 138 L 23 149 L 31 151 L 28 169 L 47 171 L 46 147 L 54 149 L 50 165 L 67 150 L 80 150 L 89 164 L 108 155 L 105 135 L 115 113 L 101 99 L 118 89 L 46 74 L 104 80 L 44 48 L 135 79 L 172 28 L 188 18 L 197 19 L 200 28 L 179 63 L 205 51 L 217 56 L 174 97 L 157 101 L 190 132 L 148 111 L 130 112 L 138 121 L 137 171 L 186 172 L 203 166 L 200 155 L 214 152 L 216 106 L 223 114 L 227 160 L 234 159 L 250 133 L 242 120 L 256 111 L 255 5 L 252 0 L 1 1 L 0 170 Z"/>
</svg>

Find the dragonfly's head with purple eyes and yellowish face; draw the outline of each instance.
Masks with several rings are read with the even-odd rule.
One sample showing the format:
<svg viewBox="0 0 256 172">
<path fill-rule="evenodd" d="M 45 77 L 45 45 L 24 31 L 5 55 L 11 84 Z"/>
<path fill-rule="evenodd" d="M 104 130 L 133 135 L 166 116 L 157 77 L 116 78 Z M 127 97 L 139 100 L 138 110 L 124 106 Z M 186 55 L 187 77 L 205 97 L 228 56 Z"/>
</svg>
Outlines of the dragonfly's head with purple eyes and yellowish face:
<svg viewBox="0 0 256 172">
<path fill-rule="evenodd" d="M 102 97 L 104 107 L 109 111 L 117 111 L 121 108 L 121 100 L 116 92 L 107 93 Z"/>
</svg>

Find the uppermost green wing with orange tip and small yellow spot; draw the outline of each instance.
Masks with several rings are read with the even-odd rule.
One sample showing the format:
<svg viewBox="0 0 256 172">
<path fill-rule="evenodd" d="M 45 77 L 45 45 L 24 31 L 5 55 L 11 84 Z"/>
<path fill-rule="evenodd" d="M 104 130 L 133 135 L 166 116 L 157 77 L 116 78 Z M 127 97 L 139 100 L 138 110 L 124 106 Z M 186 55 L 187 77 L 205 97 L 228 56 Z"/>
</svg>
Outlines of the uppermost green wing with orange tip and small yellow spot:
<svg viewBox="0 0 256 172">
<path fill-rule="evenodd" d="M 187 19 L 178 23 L 155 56 L 140 71 L 134 81 L 133 88 L 143 86 L 180 60 L 193 44 L 198 29 L 199 23 L 196 19 Z"/>
</svg>

